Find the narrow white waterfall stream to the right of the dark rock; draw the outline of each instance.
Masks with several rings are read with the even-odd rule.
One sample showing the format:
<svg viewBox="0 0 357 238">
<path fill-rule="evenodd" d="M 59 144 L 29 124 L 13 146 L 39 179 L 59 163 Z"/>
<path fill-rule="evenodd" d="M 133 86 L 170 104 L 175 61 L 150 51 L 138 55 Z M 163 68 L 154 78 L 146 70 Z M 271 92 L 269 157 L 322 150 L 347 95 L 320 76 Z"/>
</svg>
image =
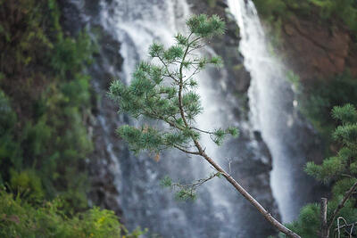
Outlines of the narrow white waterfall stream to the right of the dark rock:
<svg viewBox="0 0 357 238">
<path fill-rule="evenodd" d="M 297 217 L 310 200 L 310 179 L 303 173 L 306 152 L 301 146 L 303 122 L 295 110 L 292 86 L 284 66 L 268 50 L 267 38 L 252 0 L 228 0 L 240 29 L 239 50 L 252 81 L 249 88 L 251 123 L 270 149 L 271 187 L 284 222 Z"/>
</svg>

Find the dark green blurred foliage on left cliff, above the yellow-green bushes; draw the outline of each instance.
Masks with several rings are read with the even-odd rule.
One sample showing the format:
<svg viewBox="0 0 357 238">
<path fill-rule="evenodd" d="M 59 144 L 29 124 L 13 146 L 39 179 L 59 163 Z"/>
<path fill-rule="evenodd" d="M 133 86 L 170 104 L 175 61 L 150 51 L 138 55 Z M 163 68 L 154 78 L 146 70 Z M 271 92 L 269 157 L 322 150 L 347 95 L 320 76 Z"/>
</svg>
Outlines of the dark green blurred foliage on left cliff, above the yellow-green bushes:
<svg viewBox="0 0 357 238">
<path fill-rule="evenodd" d="M 92 149 L 82 71 L 95 47 L 86 33 L 63 37 L 59 19 L 54 0 L 0 5 L 0 185 L 31 202 L 61 194 L 81 209 Z"/>
</svg>

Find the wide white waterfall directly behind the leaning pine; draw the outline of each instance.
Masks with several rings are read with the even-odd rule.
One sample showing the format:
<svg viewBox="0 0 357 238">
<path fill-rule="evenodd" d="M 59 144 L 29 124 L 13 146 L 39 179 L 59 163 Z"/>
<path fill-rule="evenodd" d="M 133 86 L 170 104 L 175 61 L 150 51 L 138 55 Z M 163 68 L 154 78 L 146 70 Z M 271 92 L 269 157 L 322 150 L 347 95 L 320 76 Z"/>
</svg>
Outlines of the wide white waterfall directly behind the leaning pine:
<svg viewBox="0 0 357 238">
<path fill-rule="evenodd" d="M 199 157 L 187 157 L 177 151 L 165 152 L 156 162 L 150 154 L 135 156 L 121 141 L 114 130 L 122 124 L 135 123 L 126 116 L 115 114 L 117 110 L 104 94 L 111 79 L 120 78 L 129 84 L 137 62 L 147 60 L 148 47 L 154 41 L 170 45 L 173 36 L 185 29 L 185 21 L 191 14 L 184 0 L 69 0 L 79 3 L 83 17 L 104 29 L 106 52 L 101 52 L 100 63 L 94 65 L 92 77 L 95 91 L 103 98 L 97 106 L 96 130 L 100 141 L 98 157 L 109 160 L 113 183 L 119 194 L 111 202 L 118 203 L 123 221 L 129 230 L 137 226 L 149 228 L 150 235 L 163 237 L 267 237 L 275 231 L 224 179 L 215 178 L 199 189 L 197 201 L 175 201 L 173 193 L 160 186 L 160 179 L 169 175 L 174 180 L 192 182 L 213 172 Z M 198 0 L 197 0 L 198 1 Z M 86 9 L 87 8 L 87 9 Z M 102 36 L 103 37 L 103 36 Z M 120 48 L 111 46 L 112 39 L 120 42 Z M 114 51 L 107 55 L 108 51 Z M 208 48 L 201 54 L 214 54 Z M 123 59 L 117 69 L 115 55 Z M 114 55 L 114 56 L 113 56 Z M 113 62 L 111 62 L 113 61 Z M 104 73 L 117 78 L 105 78 Z M 202 97 L 203 114 L 197 124 L 203 129 L 237 126 L 238 139 L 228 140 L 217 147 L 209 138 L 202 144 L 223 168 L 237 178 L 272 213 L 276 207 L 270 191 L 270 155 L 261 138 L 255 138 L 247 121 L 237 116 L 237 97 L 227 88 L 228 73 L 225 69 L 206 69 L 198 75 L 199 94 Z M 259 136 L 258 136 L 259 137 Z M 104 151 L 104 152 L 102 152 Z M 104 175 L 105 176 L 105 175 Z M 110 206 L 108 206 L 110 208 Z"/>
</svg>

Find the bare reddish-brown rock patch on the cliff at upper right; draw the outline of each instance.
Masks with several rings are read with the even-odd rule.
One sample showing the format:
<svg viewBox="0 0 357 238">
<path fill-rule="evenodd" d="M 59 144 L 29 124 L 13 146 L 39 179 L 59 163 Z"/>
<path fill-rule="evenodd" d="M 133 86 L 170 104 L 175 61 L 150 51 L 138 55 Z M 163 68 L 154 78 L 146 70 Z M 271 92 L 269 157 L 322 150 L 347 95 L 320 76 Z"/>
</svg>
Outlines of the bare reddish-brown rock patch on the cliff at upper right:
<svg viewBox="0 0 357 238">
<path fill-rule="evenodd" d="M 303 84 L 347 69 L 357 76 L 356 42 L 341 22 L 323 23 L 317 15 L 294 15 L 283 22 L 281 33 L 280 50 Z"/>
</svg>

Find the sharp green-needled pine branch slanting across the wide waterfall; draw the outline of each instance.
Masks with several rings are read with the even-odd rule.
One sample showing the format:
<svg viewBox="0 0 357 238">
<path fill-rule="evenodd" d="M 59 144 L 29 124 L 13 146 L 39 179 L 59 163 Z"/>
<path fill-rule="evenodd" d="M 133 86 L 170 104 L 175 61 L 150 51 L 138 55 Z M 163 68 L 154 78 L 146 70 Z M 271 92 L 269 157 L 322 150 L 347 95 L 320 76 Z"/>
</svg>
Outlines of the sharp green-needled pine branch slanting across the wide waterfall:
<svg viewBox="0 0 357 238">
<path fill-rule="evenodd" d="M 264 209 L 262 205 L 256 201 L 242 185 L 240 185 L 232 176 L 228 174 L 228 172 L 221 168 L 219 164 L 217 164 L 209 155 L 206 154 L 202 145 L 198 142 L 200 132 L 209 134 L 212 136 L 211 138 L 216 144 L 220 144 L 225 135 L 237 135 L 237 130 L 230 127 L 226 130 L 218 129 L 214 132 L 211 132 L 204 131 L 197 127 L 192 127 L 191 125 L 192 121 L 195 119 L 195 116 L 201 111 L 201 104 L 199 102 L 199 96 L 194 92 L 190 91 L 187 94 L 183 94 L 184 90 L 187 90 L 187 80 L 193 78 L 193 76 L 202 70 L 207 64 L 219 65 L 220 59 L 212 58 L 211 60 L 207 60 L 205 58 L 197 58 L 194 61 L 187 61 L 187 57 L 193 50 L 204 46 L 196 44 L 204 37 L 213 37 L 223 34 L 224 22 L 220 21 L 220 18 L 217 16 L 208 18 L 205 15 L 200 15 L 194 16 L 188 20 L 187 26 L 191 33 L 188 37 L 183 37 L 182 35 L 177 37 L 179 46 L 172 46 L 166 51 L 163 48 L 163 45 L 153 44 L 151 47 L 150 54 L 152 57 L 159 58 L 163 64 L 165 70 L 163 75 L 168 76 L 173 80 L 173 86 L 170 88 L 172 90 L 169 91 L 174 92 L 174 94 L 176 94 L 175 97 L 171 96 L 169 98 L 168 96 L 166 98 L 161 95 L 161 93 L 157 93 L 160 92 L 157 86 L 160 85 L 161 80 L 160 78 L 157 79 L 157 74 L 154 74 L 154 76 L 153 74 L 150 74 L 152 73 L 150 65 L 142 65 L 142 67 L 137 70 L 134 85 L 131 84 L 129 87 L 125 87 L 122 84 L 117 83 L 111 86 L 112 98 L 117 99 L 117 101 L 118 98 L 120 98 L 120 100 L 124 101 L 120 103 L 120 106 L 123 107 L 124 111 L 127 111 L 129 114 L 131 113 L 137 117 L 140 115 L 146 115 L 153 119 L 162 120 L 170 127 L 177 130 L 177 133 L 162 133 L 160 130 L 150 128 L 149 133 L 151 134 L 148 135 L 147 133 L 143 134 L 143 131 L 140 129 L 127 126 L 123 128 L 122 135 L 125 136 L 129 143 L 131 143 L 130 145 L 132 145 L 137 152 L 140 151 L 141 148 L 158 152 L 161 151 L 162 148 L 173 147 L 177 148 L 181 152 L 203 157 L 204 160 L 212 165 L 212 168 L 216 169 L 217 173 L 214 176 L 224 176 L 228 182 L 236 188 L 237 192 L 241 193 L 247 201 L 251 202 L 251 204 L 253 204 L 253 206 L 258 209 L 262 216 L 265 217 L 272 226 L 276 227 L 280 232 L 286 234 L 289 237 L 300 237 L 299 235 L 289 230 L 286 226 L 283 226 L 275 217 L 272 217 L 268 210 Z M 191 40 L 191 37 L 193 36 L 195 36 L 195 38 Z M 184 48 L 181 47 L 182 45 Z M 174 66 L 177 69 L 177 64 L 179 64 L 179 70 L 173 71 L 172 73 L 170 67 Z M 192 75 L 186 78 L 186 76 L 184 76 L 184 70 L 188 69 L 189 66 L 192 66 L 195 71 Z M 149 76 L 145 78 L 147 75 Z M 162 74 L 160 77 L 162 77 Z M 186 78 L 186 80 L 184 80 L 184 78 Z M 179 90 L 177 90 L 177 87 L 179 87 Z M 170 94 L 170 92 L 167 94 Z M 149 103 L 143 103 L 143 100 L 146 100 L 146 102 Z M 133 104 L 132 102 L 135 103 Z M 171 106 L 174 108 L 172 109 Z M 179 119 L 176 119 L 176 115 Z M 175 121 L 170 120 L 170 117 L 175 119 Z M 154 136 L 154 138 L 150 138 L 150 136 Z M 197 151 L 186 149 L 185 144 L 194 144 Z M 193 186 L 196 187 L 198 185 L 202 185 L 204 182 L 212 179 L 214 176 L 199 180 Z M 195 195 L 193 190 L 188 192 L 190 193 L 188 196 Z M 186 191 L 179 193 L 179 196 L 184 198 L 187 197 Z"/>
</svg>

